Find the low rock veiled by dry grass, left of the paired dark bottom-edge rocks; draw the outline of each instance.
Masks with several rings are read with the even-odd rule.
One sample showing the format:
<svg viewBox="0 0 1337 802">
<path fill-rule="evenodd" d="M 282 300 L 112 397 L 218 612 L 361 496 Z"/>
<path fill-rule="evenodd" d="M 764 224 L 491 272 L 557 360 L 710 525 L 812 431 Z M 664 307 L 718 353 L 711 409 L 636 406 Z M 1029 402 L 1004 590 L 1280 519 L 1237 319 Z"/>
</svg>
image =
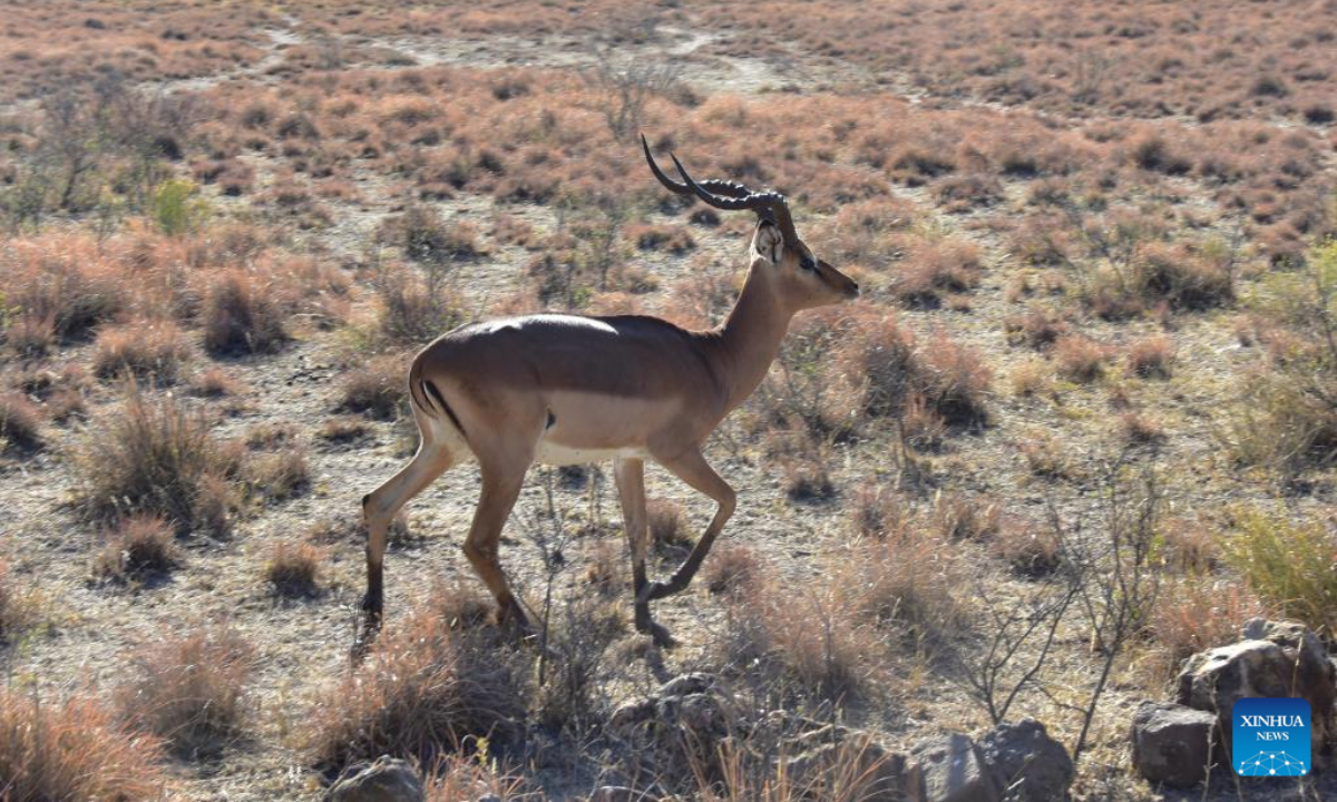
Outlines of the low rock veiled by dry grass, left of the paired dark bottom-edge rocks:
<svg viewBox="0 0 1337 802">
<path fill-rule="evenodd" d="M 837 724 L 794 738 L 785 774 L 800 789 L 845 789 L 862 802 L 919 802 L 906 777 L 905 755 L 892 753 L 866 732 Z M 858 787 L 850 781 L 858 778 Z"/>
</svg>

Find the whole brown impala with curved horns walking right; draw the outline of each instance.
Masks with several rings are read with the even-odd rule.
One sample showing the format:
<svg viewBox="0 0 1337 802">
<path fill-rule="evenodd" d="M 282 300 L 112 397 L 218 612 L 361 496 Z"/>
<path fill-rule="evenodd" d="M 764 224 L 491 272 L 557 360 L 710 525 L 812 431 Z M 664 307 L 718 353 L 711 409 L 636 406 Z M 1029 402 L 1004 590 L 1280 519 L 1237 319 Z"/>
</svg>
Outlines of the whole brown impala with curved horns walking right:
<svg viewBox="0 0 1337 802">
<path fill-rule="evenodd" d="M 424 348 L 409 369 L 421 444 L 413 460 L 362 499 L 366 517 L 366 635 L 380 627 L 382 559 L 390 521 L 433 480 L 468 457 L 483 489 L 464 553 L 500 606 L 500 619 L 528 620 L 497 561 L 501 528 L 533 462 L 614 461 L 631 551 L 635 624 L 670 646 L 650 602 L 691 581 L 725 521 L 734 489 L 702 456 L 710 433 L 757 389 L 794 313 L 858 295 L 858 285 L 816 258 L 794 231 L 785 196 L 725 180 L 681 182 L 650 154 L 664 187 L 722 210 L 758 217 L 742 293 L 722 326 L 689 331 L 642 315 L 533 314 L 460 326 Z M 646 577 L 644 461 L 654 460 L 718 505 L 714 519 L 666 581 Z"/>
</svg>

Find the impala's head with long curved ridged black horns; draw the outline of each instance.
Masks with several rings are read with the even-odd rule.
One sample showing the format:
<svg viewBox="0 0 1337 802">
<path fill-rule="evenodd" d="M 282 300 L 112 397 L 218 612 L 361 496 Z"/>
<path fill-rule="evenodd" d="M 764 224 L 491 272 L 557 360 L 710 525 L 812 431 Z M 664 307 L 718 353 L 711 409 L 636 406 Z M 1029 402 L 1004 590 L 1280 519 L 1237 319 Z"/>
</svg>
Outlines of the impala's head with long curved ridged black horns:
<svg viewBox="0 0 1337 802">
<path fill-rule="evenodd" d="M 673 180 L 659 170 L 644 135 L 640 146 L 651 172 L 668 190 L 679 195 L 695 195 L 715 209 L 750 210 L 757 215 L 751 255 L 754 274 L 766 277 L 779 298 L 790 309 L 812 309 L 840 303 L 858 297 L 858 285 L 852 278 L 817 258 L 794 231 L 789 202 L 779 192 L 754 192 L 730 180 L 694 180 L 687 170 L 670 154 L 682 182 Z"/>
</svg>

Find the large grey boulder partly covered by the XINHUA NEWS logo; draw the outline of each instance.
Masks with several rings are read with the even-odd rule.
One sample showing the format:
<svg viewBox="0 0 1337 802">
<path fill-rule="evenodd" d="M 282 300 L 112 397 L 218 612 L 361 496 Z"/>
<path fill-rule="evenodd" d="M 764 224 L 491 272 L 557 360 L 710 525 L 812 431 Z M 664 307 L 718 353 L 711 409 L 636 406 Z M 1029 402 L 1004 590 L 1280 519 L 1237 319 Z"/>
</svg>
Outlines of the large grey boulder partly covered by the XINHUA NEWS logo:
<svg viewBox="0 0 1337 802">
<path fill-rule="evenodd" d="M 1229 747 L 1230 711 L 1239 699 L 1300 696 L 1313 711 L 1314 751 L 1332 745 L 1334 672 L 1318 636 L 1301 624 L 1253 620 L 1245 631 L 1262 638 L 1198 652 L 1179 672 L 1177 702 L 1215 712 Z"/>
</svg>

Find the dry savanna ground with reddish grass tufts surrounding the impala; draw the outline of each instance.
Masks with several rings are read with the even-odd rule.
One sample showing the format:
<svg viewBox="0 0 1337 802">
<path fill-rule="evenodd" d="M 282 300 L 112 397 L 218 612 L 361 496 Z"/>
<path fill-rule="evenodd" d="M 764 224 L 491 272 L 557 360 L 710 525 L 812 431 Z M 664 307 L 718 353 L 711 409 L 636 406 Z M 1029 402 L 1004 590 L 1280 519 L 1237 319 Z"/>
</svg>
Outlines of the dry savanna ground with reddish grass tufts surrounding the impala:
<svg viewBox="0 0 1337 802">
<path fill-rule="evenodd" d="M 0 795 L 316 799 L 392 751 L 436 799 L 797 797 L 606 731 L 710 671 L 893 747 L 1035 716 L 1079 798 L 1158 798 L 1126 728 L 1178 660 L 1253 615 L 1337 623 L 1332 0 L 0 20 Z M 786 192 L 865 289 L 796 319 L 710 442 L 739 509 L 656 606 L 681 646 L 630 627 L 607 466 L 532 473 L 503 563 L 545 647 L 492 630 L 465 466 L 397 527 L 352 667 L 416 348 L 727 313 L 751 221 L 667 195 L 639 131 Z M 713 511 L 650 493 L 663 572 Z"/>
</svg>

